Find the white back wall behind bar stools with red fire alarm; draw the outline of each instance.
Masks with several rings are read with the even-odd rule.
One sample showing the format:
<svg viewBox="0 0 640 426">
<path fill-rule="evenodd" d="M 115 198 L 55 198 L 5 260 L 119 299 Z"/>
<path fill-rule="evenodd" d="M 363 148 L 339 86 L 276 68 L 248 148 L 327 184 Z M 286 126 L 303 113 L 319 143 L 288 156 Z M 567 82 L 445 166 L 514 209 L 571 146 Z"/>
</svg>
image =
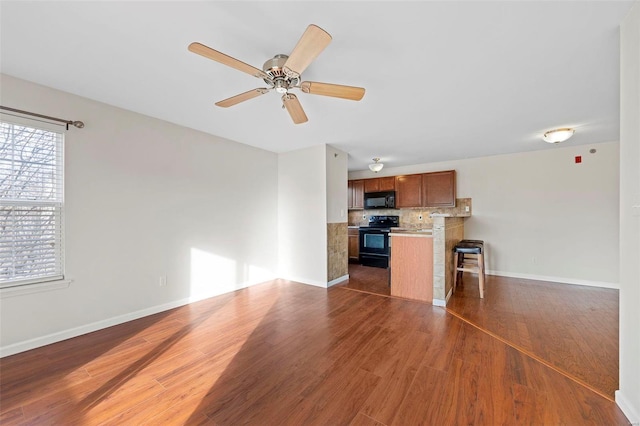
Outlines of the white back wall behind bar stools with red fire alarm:
<svg viewBox="0 0 640 426">
<path fill-rule="evenodd" d="M 617 288 L 618 148 L 569 140 L 542 151 L 385 167 L 377 176 L 455 169 L 458 198 L 472 198 L 465 236 L 485 240 L 490 273 Z"/>
</svg>

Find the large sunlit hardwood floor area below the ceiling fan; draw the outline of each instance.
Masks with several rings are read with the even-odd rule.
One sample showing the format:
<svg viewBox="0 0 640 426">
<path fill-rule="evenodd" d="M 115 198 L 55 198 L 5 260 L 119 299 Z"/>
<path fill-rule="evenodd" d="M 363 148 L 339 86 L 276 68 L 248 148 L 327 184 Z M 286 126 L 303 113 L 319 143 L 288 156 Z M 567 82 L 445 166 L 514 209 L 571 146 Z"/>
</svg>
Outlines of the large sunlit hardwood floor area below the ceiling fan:
<svg viewBox="0 0 640 426">
<path fill-rule="evenodd" d="M 281 280 L 3 358 L 0 380 L 3 425 L 628 424 L 443 308 Z"/>
</svg>

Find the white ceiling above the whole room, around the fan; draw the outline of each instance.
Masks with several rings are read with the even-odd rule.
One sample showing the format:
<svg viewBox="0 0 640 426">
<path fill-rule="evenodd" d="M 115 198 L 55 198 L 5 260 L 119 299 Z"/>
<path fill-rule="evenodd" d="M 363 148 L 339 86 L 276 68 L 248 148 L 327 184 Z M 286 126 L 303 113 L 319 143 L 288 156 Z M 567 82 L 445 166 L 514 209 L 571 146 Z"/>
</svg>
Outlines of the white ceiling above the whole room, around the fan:
<svg viewBox="0 0 640 426">
<path fill-rule="evenodd" d="M 401 166 L 550 149 L 540 135 L 556 127 L 577 129 L 565 144 L 618 140 L 631 5 L 2 1 L 0 71 L 269 151 L 326 143 L 350 170 L 372 157 Z M 362 101 L 297 92 L 301 125 L 273 92 L 214 106 L 265 84 L 189 43 L 262 68 L 310 23 L 333 41 L 302 79 L 365 87 Z"/>
</svg>

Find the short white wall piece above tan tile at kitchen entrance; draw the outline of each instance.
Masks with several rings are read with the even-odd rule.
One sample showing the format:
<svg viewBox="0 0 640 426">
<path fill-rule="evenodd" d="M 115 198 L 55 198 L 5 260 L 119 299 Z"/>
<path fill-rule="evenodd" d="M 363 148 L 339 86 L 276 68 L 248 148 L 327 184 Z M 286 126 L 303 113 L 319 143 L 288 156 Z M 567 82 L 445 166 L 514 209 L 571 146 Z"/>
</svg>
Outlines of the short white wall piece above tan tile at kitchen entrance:
<svg viewBox="0 0 640 426">
<path fill-rule="evenodd" d="M 326 147 L 327 154 L 327 223 L 347 222 L 348 155 Z"/>
</svg>

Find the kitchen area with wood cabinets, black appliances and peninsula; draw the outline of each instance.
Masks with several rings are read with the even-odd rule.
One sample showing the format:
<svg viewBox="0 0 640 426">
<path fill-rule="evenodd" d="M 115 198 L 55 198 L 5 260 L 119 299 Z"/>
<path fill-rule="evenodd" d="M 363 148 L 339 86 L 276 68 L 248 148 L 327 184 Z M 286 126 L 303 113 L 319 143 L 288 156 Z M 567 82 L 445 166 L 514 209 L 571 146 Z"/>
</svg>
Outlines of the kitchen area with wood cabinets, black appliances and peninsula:
<svg viewBox="0 0 640 426">
<path fill-rule="evenodd" d="M 471 216 L 471 199 L 456 198 L 455 170 L 349 180 L 348 196 L 345 286 L 446 305 L 453 246 Z"/>
</svg>

